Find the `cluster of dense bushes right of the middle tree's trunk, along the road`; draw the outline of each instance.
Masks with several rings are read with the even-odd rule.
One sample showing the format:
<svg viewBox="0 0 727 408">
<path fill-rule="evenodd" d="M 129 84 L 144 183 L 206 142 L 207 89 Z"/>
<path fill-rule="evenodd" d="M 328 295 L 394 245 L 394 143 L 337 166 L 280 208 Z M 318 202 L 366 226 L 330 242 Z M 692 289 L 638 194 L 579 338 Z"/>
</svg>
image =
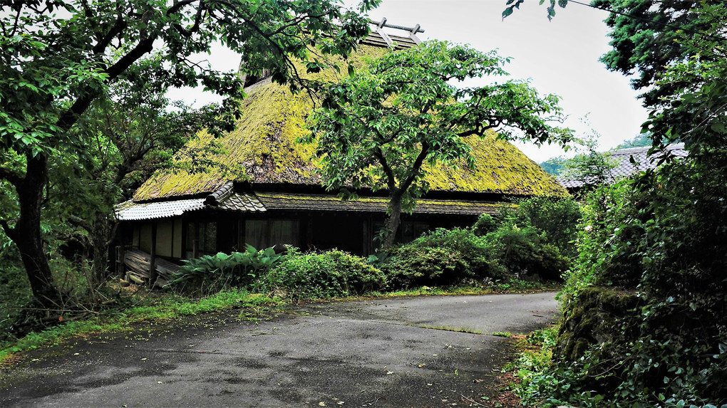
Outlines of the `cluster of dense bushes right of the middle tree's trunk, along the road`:
<svg viewBox="0 0 727 408">
<path fill-rule="evenodd" d="M 399 245 L 381 263 L 393 284 L 487 284 L 526 278 L 560 280 L 580 218 L 570 199 L 533 198 L 487 214 L 470 228 L 437 229 Z"/>
</svg>

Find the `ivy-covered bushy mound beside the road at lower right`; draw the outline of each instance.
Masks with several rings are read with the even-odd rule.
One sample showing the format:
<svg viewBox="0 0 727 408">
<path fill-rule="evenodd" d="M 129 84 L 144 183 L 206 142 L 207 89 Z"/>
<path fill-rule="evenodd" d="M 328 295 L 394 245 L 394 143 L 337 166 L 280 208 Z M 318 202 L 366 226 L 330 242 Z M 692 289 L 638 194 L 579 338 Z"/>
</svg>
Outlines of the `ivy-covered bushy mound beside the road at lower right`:
<svg viewBox="0 0 727 408">
<path fill-rule="evenodd" d="M 727 184 L 698 170 L 670 163 L 587 198 L 580 257 L 561 295 L 555 399 L 727 404 Z"/>
</svg>

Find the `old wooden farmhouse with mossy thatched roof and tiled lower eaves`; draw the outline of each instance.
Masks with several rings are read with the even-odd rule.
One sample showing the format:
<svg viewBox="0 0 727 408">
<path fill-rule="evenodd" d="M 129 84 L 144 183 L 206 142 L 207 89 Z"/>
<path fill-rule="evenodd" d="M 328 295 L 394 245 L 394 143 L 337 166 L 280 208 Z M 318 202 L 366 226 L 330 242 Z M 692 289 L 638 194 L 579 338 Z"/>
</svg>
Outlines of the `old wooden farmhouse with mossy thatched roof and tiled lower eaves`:
<svg viewBox="0 0 727 408">
<path fill-rule="evenodd" d="M 399 30 L 400 35 L 384 31 L 390 27 L 385 22 L 375 25 L 350 61 L 361 66 L 365 57 L 419 43 L 418 26 Z M 345 69 L 341 71 L 346 75 Z M 334 81 L 337 74 L 329 70 L 316 75 Z M 244 250 L 245 244 L 372 253 L 373 238 L 385 221 L 387 193 L 361 191 L 358 200 L 340 200 L 337 192 L 321 187 L 314 147 L 295 142 L 305 134 L 305 121 L 313 109 L 308 94 L 292 94 L 269 77 L 246 78 L 246 93 L 236 130 L 214 139 L 222 152 L 211 160 L 219 166 L 196 173 L 159 171 L 132 200 L 119 205 L 119 246 L 127 253 L 131 248 L 142 261 L 163 259 L 167 266 L 165 261 Z M 411 240 L 436 227 L 469 226 L 514 197 L 568 194 L 536 163 L 496 136 L 468 140 L 475 168 L 464 163 L 456 169 L 430 168 L 430 192 L 417 200 L 411 214 L 403 214 L 399 240 Z M 188 150 L 212 140 L 209 134 L 200 134 Z M 177 160 L 188 159 L 180 155 Z M 120 257 L 118 261 L 124 258 Z M 126 258 L 126 264 L 134 264 Z"/>
</svg>

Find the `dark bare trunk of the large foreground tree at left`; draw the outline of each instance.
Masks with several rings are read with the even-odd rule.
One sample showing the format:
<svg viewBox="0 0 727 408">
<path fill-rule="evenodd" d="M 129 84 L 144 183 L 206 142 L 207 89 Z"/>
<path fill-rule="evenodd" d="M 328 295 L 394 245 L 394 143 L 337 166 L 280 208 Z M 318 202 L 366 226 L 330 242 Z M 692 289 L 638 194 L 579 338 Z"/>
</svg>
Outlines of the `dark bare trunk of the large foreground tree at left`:
<svg viewBox="0 0 727 408">
<path fill-rule="evenodd" d="M 8 237 L 15 242 L 31 282 L 33 297 L 41 306 L 59 306 L 60 296 L 53 283 L 48 259 L 41 240 L 41 208 L 43 188 L 48 174 L 48 158 L 44 154 L 28 155 L 23 183 L 17 186 L 20 218 Z"/>
</svg>

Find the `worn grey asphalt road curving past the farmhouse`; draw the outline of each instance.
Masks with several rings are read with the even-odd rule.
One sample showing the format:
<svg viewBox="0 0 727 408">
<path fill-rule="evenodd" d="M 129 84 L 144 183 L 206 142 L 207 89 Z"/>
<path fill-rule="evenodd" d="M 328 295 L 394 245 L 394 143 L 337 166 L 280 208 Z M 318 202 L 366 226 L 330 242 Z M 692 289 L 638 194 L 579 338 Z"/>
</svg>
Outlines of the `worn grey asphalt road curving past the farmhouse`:
<svg viewBox="0 0 727 408">
<path fill-rule="evenodd" d="M 492 333 L 552 322 L 553 296 L 321 303 L 80 338 L 0 369 L 0 407 L 467 406 L 511 353 Z"/>
</svg>

